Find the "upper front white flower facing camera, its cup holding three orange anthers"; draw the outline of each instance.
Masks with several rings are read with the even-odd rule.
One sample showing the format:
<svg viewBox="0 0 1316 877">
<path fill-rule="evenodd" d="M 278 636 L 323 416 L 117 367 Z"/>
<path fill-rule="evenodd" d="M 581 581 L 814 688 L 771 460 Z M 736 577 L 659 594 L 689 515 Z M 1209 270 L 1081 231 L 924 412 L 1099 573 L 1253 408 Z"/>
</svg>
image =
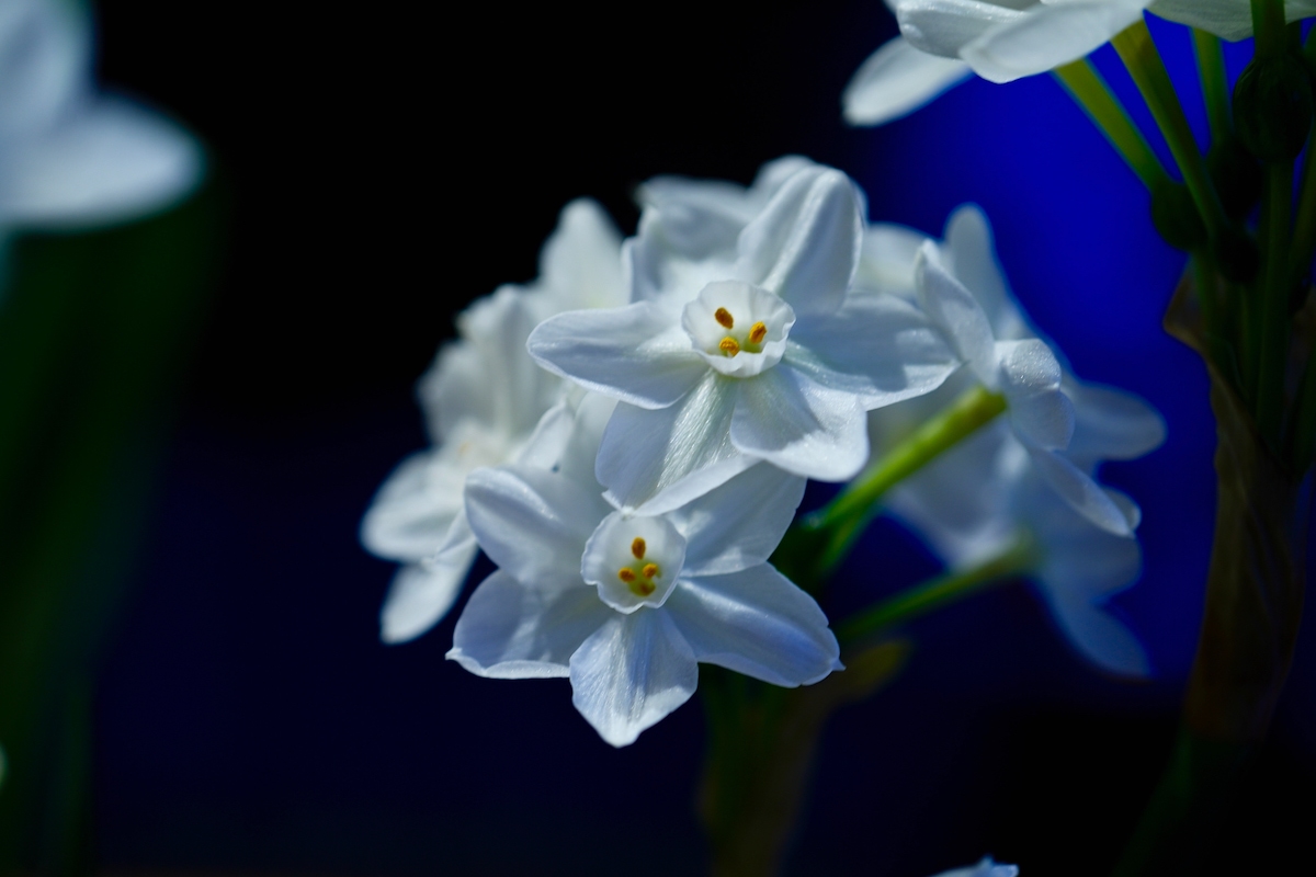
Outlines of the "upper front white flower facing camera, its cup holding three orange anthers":
<svg viewBox="0 0 1316 877">
<path fill-rule="evenodd" d="M 803 163 L 730 252 L 690 258 L 642 222 L 628 243 L 633 304 L 534 330 L 536 360 L 622 402 L 597 460 L 617 505 L 675 508 L 758 460 L 849 479 L 869 455 L 865 412 L 954 371 L 917 308 L 850 295 L 859 205 L 844 174 Z"/>
</svg>

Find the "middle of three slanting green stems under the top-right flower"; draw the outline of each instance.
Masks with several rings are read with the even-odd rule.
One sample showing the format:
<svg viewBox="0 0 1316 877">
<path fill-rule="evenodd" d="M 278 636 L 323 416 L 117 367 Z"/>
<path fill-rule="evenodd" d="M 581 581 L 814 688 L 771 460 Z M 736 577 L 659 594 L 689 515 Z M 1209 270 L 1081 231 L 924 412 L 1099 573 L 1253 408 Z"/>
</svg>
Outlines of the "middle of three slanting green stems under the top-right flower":
<svg viewBox="0 0 1316 877">
<path fill-rule="evenodd" d="M 1155 118 L 1161 134 L 1170 146 L 1170 153 L 1183 175 L 1183 181 L 1202 213 L 1207 234 L 1211 235 L 1212 241 L 1216 241 L 1228 227 L 1229 221 L 1225 217 L 1220 196 L 1211 184 L 1207 163 L 1198 150 L 1198 142 L 1192 138 L 1192 129 L 1188 128 L 1179 96 L 1174 91 L 1174 83 L 1170 82 L 1170 74 L 1165 70 L 1165 63 L 1155 49 L 1146 21 L 1138 20 L 1115 34 L 1111 45 L 1115 46 L 1115 51 L 1119 53 L 1129 75 L 1133 76 L 1133 82 L 1142 93 L 1142 100 L 1146 101 L 1152 117 Z"/>
</svg>

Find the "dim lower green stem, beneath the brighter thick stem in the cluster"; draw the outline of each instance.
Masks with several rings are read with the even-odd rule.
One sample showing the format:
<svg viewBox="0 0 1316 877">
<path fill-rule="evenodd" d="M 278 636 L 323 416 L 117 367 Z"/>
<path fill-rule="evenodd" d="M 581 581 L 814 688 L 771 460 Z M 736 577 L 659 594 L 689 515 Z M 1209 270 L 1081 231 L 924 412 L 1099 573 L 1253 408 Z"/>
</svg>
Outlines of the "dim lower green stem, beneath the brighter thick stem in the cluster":
<svg viewBox="0 0 1316 877">
<path fill-rule="evenodd" d="M 1015 579 L 1037 564 L 1037 548 L 1028 536 L 995 557 L 969 569 L 946 572 L 898 594 L 861 609 L 836 625 L 836 638 L 842 647 L 853 646 L 876 632 L 903 625 L 920 615 L 958 602 L 988 585 Z"/>
</svg>

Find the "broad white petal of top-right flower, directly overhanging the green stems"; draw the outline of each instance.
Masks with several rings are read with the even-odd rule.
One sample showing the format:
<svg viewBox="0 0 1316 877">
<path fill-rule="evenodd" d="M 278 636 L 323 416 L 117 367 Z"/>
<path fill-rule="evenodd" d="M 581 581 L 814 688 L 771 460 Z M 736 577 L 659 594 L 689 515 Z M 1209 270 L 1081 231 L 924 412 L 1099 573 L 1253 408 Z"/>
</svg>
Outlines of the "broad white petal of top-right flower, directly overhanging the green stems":
<svg viewBox="0 0 1316 877">
<path fill-rule="evenodd" d="M 983 32 L 959 57 L 983 79 L 1008 83 L 1078 60 L 1142 17 L 1149 0 L 1074 0 L 1032 7 Z"/>
</svg>

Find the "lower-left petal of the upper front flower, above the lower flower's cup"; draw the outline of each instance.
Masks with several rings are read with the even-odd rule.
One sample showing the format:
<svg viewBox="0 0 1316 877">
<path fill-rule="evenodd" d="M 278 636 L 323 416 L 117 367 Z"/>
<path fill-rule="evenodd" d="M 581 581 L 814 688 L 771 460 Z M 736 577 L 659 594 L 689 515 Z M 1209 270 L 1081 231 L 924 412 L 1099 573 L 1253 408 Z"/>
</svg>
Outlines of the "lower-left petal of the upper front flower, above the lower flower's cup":
<svg viewBox="0 0 1316 877">
<path fill-rule="evenodd" d="M 753 465 L 729 435 L 734 384 L 709 372 L 670 408 L 647 412 L 617 405 L 595 469 L 609 501 L 661 514 Z"/>
</svg>

